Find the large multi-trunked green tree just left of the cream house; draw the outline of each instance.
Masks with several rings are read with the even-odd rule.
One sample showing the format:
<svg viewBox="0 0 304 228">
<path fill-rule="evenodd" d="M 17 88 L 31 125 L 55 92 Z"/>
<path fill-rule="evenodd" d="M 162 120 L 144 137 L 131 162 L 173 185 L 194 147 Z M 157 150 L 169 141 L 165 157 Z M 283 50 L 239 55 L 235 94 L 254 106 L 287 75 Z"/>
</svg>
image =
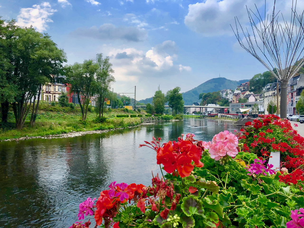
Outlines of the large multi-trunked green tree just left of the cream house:
<svg viewBox="0 0 304 228">
<path fill-rule="evenodd" d="M 62 73 L 62 64 L 66 62 L 66 54 L 57 47 L 48 34 L 36 32 L 32 27 L 16 29 L 16 45 L 12 48 L 14 71 L 18 88 L 12 107 L 16 119 L 16 127 L 21 129 L 32 105 L 31 124 L 36 120 L 39 108 L 41 85 L 52 81 L 51 75 Z M 37 104 L 35 107 L 35 96 Z"/>
</svg>

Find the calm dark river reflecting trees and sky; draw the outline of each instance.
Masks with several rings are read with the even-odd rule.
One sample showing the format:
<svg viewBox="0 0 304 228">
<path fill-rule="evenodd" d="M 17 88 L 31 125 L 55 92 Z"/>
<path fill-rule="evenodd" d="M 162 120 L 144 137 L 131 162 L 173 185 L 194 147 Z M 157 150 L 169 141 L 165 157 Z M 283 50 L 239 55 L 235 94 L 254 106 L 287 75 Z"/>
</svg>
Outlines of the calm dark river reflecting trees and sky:
<svg viewBox="0 0 304 228">
<path fill-rule="evenodd" d="M 233 132 L 231 123 L 185 118 L 73 138 L 0 142 L 0 227 L 69 227 L 79 203 L 98 198 L 112 181 L 151 184 L 151 171 L 160 170 L 154 150 L 138 148 L 144 140 L 194 133 L 209 141 L 220 131 Z"/>
</svg>

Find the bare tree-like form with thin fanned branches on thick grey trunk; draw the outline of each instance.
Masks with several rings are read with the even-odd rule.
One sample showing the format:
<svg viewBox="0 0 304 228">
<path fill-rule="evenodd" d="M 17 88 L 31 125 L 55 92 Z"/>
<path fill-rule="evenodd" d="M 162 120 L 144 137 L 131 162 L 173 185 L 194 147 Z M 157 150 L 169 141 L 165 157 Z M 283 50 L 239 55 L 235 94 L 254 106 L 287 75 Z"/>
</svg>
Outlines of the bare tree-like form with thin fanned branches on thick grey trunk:
<svg viewBox="0 0 304 228">
<path fill-rule="evenodd" d="M 304 63 L 304 26 L 303 14 L 296 13 L 297 2 L 292 1 L 290 21 L 282 18 L 279 12 L 266 15 L 266 1 L 264 18 L 256 7 L 256 13 L 247 9 L 252 36 L 249 31 L 243 29 L 237 17 L 235 17 L 236 31 L 233 32 L 247 52 L 263 64 L 281 82 L 280 115 L 287 115 L 287 84 L 294 77 Z M 295 66 L 295 63 L 299 64 Z M 295 67 L 294 67 L 295 66 Z"/>
</svg>

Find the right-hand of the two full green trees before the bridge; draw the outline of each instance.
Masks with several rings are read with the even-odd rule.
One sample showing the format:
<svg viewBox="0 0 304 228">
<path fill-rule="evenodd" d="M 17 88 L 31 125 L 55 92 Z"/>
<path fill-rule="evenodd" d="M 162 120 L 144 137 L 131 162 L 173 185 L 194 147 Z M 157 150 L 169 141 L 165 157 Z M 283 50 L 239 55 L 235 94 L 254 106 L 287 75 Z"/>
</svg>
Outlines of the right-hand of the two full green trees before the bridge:
<svg viewBox="0 0 304 228">
<path fill-rule="evenodd" d="M 169 107 L 172 108 L 173 115 L 183 113 L 184 111 L 184 101 L 180 91 L 180 87 L 175 87 L 174 89 L 169 90 L 166 94 L 166 99 L 168 100 Z"/>
</svg>

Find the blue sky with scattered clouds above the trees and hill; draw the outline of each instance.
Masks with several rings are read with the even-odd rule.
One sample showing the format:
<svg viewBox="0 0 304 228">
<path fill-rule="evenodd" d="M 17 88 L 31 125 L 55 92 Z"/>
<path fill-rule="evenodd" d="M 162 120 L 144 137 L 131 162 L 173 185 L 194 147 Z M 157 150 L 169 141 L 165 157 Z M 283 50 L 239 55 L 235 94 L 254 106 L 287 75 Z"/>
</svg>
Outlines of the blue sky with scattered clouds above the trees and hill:
<svg viewBox="0 0 304 228">
<path fill-rule="evenodd" d="M 219 74 L 240 80 L 266 71 L 239 47 L 230 28 L 234 16 L 248 26 L 246 5 L 253 9 L 254 3 L 259 8 L 264 1 L 7 0 L 0 15 L 48 33 L 67 53 L 68 64 L 97 53 L 109 56 L 114 91 L 136 85 L 139 100 L 151 97 L 159 84 L 163 92 L 175 86 L 186 92 Z M 290 3 L 276 4 L 285 12 Z"/>
</svg>

